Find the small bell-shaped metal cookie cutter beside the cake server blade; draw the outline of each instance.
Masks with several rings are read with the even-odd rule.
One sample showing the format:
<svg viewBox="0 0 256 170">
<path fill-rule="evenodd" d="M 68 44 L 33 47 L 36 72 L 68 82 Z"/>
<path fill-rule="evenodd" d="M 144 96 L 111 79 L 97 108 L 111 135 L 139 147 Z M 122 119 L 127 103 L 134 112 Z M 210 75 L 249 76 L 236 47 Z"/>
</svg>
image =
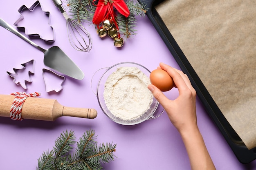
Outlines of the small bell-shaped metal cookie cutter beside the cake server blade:
<svg viewBox="0 0 256 170">
<path fill-rule="evenodd" d="M 46 77 L 46 74 L 48 74 L 49 76 L 52 76 L 55 80 L 59 79 L 60 82 L 59 84 L 56 85 L 56 83 L 52 82 L 51 80 L 52 79 L 47 79 Z M 45 91 L 46 92 L 52 92 L 52 91 L 55 91 L 55 92 L 59 92 L 63 89 L 63 83 L 65 81 L 65 77 L 62 76 L 62 75 L 58 75 L 57 73 L 51 71 L 51 70 L 48 70 L 48 69 L 45 69 L 43 68 L 43 79 L 44 79 L 44 82 L 45 82 Z M 54 84 L 53 86 L 50 86 L 51 84 Z"/>
</svg>

